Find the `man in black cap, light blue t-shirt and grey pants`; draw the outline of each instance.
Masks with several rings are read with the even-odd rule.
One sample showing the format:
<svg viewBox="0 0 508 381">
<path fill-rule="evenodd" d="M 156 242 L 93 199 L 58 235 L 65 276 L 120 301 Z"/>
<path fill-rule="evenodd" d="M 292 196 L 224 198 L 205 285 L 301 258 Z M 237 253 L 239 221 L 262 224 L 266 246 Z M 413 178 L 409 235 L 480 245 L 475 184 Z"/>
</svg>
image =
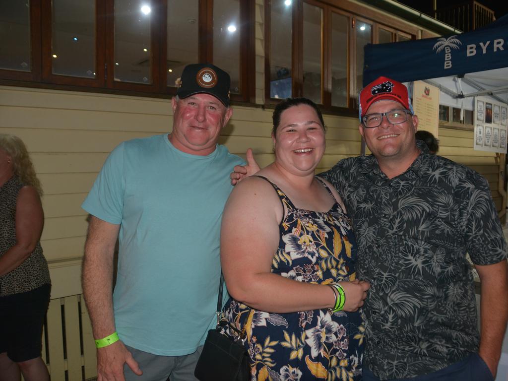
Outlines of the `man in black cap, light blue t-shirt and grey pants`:
<svg viewBox="0 0 508 381">
<path fill-rule="evenodd" d="M 195 380 L 216 324 L 228 174 L 242 163 L 217 144 L 233 114 L 229 88 L 216 66 L 186 66 L 171 101 L 171 134 L 121 143 L 82 205 L 91 214 L 83 293 L 99 381 Z"/>
</svg>

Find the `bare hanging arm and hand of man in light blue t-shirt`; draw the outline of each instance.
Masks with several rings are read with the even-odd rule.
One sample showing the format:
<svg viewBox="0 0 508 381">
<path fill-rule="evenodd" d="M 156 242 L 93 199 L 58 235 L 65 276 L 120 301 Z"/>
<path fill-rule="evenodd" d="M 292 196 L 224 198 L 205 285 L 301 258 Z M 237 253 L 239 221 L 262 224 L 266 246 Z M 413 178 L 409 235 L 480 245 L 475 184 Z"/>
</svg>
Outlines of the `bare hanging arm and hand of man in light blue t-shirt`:
<svg viewBox="0 0 508 381">
<path fill-rule="evenodd" d="M 113 316 L 113 257 L 120 226 L 90 216 L 83 257 L 82 285 L 93 336 L 102 339 L 115 332 Z M 121 341 L 98 348 L 98 381 L 123 381 L 124 364 L 141 374 L 138 363 Z"/>
</svg>

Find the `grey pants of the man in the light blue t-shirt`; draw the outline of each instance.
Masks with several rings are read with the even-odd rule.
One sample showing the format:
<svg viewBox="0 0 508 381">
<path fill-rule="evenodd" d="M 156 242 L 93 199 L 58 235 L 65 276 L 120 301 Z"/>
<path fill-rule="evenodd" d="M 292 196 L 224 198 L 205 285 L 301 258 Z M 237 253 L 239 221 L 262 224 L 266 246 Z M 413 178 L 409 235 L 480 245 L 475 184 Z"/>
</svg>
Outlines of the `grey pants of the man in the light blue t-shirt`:
<svg viewBox="0 0 508 381">
<path fill-rule="evenodd" d="M 123 368 L 125 381 L 167 381 L 168 378 L 171 381 L 198 381 L 194 377 L 194 369 L 203 346 L 198 347 L 196 352 L 184 356 L 157 356 L 139 351 L 132 346 L 126 347 L 138 362 L 143 374 L 136 375 L 125 364 Z"/>
</svg>

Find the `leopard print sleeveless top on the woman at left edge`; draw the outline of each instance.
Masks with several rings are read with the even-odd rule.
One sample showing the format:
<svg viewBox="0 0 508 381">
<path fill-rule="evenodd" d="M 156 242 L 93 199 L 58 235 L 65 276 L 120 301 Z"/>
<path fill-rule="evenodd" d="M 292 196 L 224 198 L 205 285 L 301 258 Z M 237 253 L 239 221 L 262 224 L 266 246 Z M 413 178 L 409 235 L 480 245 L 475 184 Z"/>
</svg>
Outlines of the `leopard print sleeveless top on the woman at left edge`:
<svg viewBox="0 0 508 381">
<path fill-rule="evenodd" d="M 0 257 L 16 244 L 16 199 L 23 187 L 16 176 L 0 187 Z M 35 290 L 51 283 L 41 243 L 17 268 L 0 276 L 0 297 Z"/>
</svg>

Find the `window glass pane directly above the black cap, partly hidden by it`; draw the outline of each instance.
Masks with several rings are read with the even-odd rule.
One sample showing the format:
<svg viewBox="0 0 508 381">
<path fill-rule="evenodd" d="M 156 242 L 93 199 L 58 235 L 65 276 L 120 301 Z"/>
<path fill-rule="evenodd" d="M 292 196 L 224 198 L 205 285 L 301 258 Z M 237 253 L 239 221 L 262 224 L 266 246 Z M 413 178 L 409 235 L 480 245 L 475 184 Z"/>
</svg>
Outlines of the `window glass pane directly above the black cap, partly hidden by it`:
<svg viewBox="0 0 508 381">
<path fill-rule="evenodd" d="M 186 65 L 198 62 L 198 15 L 199 0 L 168 0 L 168 86 L 175 86 Z"/>
</svg>

